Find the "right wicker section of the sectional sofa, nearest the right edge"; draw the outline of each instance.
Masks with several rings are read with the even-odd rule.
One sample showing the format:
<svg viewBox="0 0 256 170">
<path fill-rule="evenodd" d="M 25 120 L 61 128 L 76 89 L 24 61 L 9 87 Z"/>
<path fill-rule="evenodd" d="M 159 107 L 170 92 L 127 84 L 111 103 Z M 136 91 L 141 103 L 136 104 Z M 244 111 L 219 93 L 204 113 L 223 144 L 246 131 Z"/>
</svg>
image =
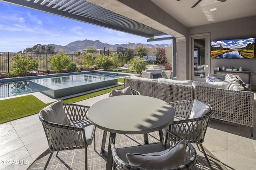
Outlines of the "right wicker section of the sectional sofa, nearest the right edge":
<svg viewBox="0 0 256 170">
<path fill-rule="evenodd" d="M 225 74 L 209 74 L 211 77 L 225 77 Z M 254 93 L 236 75 L 244 91 L 196 86 L 195 99 L 210 104 L 212 118 L 250 127 L 253 137 L 253 101 Z"/>
</svg>

